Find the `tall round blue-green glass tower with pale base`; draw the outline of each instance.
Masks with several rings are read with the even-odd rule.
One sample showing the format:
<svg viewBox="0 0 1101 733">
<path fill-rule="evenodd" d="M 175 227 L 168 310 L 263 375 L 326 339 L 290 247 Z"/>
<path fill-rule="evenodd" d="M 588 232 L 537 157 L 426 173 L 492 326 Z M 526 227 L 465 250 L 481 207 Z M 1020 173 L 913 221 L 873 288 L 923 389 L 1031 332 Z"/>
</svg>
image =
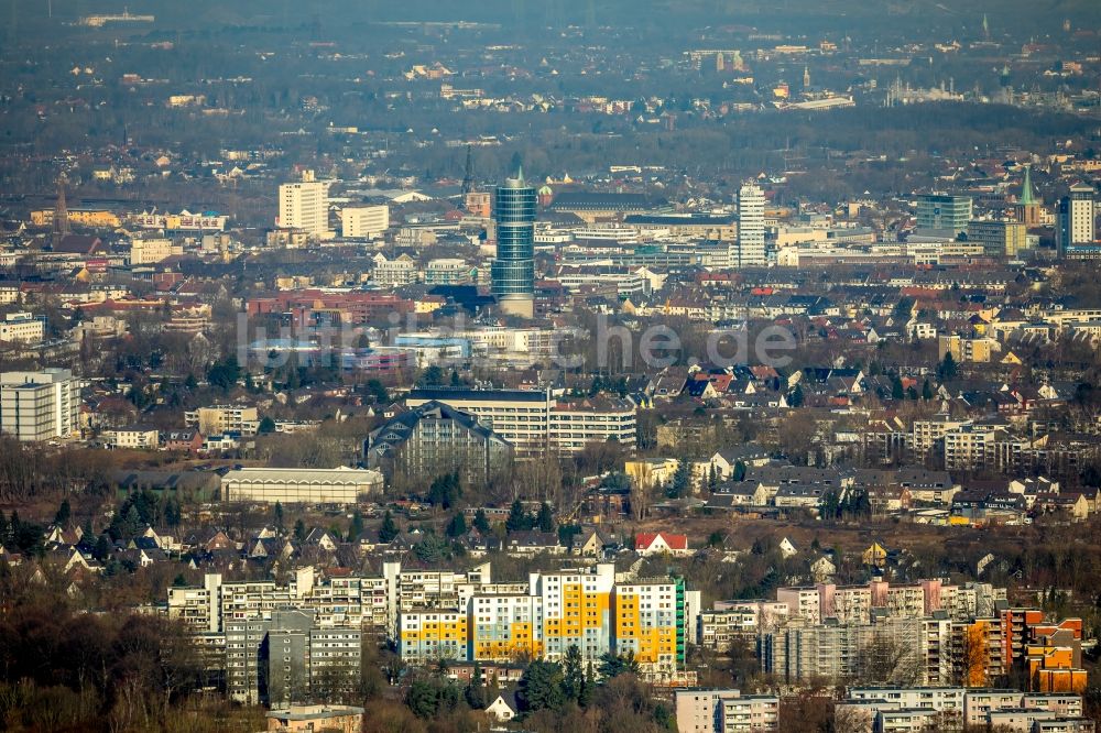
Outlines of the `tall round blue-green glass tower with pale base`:
<svg viewBox="0 0 1101 733">
<path fill-rule="evenodd" d="M 491 270 L 493 295 L 501 311 L 532 318 L 535 315 L 535 188 L 524 182 L 523 169 L 497 188 L 497 259 Z"/>
</svg>

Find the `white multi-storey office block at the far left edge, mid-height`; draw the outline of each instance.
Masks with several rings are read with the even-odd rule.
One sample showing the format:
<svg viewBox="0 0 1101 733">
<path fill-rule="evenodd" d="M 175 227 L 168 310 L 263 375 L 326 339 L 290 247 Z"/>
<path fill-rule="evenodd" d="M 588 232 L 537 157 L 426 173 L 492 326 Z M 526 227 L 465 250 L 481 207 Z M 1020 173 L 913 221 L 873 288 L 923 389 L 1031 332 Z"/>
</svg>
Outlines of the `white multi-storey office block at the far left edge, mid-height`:
<svg viewBox="0 0 1101 733">
<path fill-rule="evenodd" d="M 0 430 L 20 440 L 68 437 L 77 429 L 80 381 L 67 369 L 0 374 Z"/>
</svg>

